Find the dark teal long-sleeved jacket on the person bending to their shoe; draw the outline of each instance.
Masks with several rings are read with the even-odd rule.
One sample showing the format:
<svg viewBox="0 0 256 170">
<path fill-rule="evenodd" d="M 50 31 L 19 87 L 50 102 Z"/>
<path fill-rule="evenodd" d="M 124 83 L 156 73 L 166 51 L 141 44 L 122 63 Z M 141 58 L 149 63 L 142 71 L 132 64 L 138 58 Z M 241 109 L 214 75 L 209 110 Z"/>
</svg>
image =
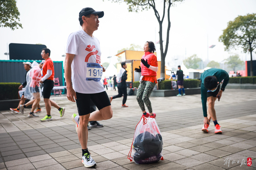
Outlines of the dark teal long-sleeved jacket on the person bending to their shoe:
<svg viewBox="0 0 256 170">
<path fill-rule="evenodd" d="M 227 72 L 225 70 L 221 70 L 221 69 L 216 69 L 216 68 L 211 68 L 209 70 L 205 70 L 200 77 L 200 80 L 202 81 L 201 84 L 201 100 L 202 100 L 202 107 L 203 107 L 203 116 L 207 117 L 207 106 L 206 106 L 206 102 L 207 102 L 207 91 L 208 89 L 206 89 L 204 87 L 204 78 L 206 78 L 207 76 L 215 76 L 218 80 L 218 82 L 220 83 L 222 80 L 223 84 L 221 86 L 221 88 L 226 87 L 228 80 L 229 80 L 229 76 L 227 74 Z"/>
</svg>

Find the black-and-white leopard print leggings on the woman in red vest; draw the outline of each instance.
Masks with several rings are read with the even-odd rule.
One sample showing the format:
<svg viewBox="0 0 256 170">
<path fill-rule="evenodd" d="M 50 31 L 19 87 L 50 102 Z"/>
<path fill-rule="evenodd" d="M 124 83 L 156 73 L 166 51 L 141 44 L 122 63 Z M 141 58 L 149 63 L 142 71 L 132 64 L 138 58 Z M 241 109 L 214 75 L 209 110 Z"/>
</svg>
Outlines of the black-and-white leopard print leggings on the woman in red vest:
<svg viewBox="0 0 256 170">
<path fill-rule="evenodd" d="M 149 96 L 155 87 L 155 83 L 150 81 L 142 81 L 137 90 L 136 99 L 142 111 L 145 111 L 144 103 L 146 104 L 149 113 L 152 113 L 152 106 L 149 100 Z"/>
</svg>

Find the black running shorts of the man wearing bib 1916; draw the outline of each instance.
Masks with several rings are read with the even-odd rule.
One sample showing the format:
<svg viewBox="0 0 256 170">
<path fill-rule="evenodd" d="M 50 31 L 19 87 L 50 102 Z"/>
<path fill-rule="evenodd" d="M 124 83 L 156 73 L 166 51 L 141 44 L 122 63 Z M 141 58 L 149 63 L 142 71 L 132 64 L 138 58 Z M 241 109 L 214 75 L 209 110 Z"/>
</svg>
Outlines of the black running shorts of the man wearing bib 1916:
<svg viewBox="0 0 256 170">
<path fill-rule="evenodd" d="M 94 109 L 91 110 L 91 100 L 94 102 L 94 104 L 99 110 L 104 107 L 111 106 L 106 91 L 93 94 L 84 94 L 76 92 L 76 95 L 76 103 L 79 116 L 88 115 L 89 113 L 95 111 Z"/>
</svg>

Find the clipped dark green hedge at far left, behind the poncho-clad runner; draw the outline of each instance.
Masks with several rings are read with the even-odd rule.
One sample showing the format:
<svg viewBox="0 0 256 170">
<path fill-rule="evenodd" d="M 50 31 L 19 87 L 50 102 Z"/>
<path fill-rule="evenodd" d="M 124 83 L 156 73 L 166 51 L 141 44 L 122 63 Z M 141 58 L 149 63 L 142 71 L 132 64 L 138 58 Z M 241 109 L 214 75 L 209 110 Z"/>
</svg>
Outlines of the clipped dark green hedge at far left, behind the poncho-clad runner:
<svg viewBox="0 0 256 170">
<path fill-rule="evenodd" d="M 20 83 L 0 83 L 0 100 L 18 99 Z"/>
</svg>

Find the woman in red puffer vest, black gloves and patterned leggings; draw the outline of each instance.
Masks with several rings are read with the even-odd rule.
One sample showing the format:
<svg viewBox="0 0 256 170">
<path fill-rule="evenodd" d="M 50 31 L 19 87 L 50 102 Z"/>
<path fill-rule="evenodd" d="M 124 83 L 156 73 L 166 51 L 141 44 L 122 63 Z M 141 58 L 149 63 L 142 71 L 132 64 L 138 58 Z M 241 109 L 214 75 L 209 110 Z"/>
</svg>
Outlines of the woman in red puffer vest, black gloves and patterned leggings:
<svg viewBox="0 0 256 170">
<path fill-rule="evenodd" d="M 158 70 L 158 63 L 157 58 L 154 55 L 154 51 L 156 49 L 152 41 L 147 41 L 143 49 L 145 54 L 141 58 L 139 69 L 135 68 L 136 72 L 141 72 L 140 85 L 137 90 L 136 99 L 139 103 L 143 115 L 145 117 L 153 115 L 155 118 L 156 114 L 152 112 L 149 96 L 157 84 L 156 72 Z M 144 103 L 146 104 L 149 113 L 146 112 Z"/>
</svg>

